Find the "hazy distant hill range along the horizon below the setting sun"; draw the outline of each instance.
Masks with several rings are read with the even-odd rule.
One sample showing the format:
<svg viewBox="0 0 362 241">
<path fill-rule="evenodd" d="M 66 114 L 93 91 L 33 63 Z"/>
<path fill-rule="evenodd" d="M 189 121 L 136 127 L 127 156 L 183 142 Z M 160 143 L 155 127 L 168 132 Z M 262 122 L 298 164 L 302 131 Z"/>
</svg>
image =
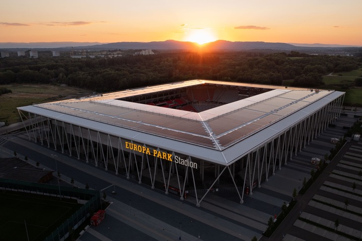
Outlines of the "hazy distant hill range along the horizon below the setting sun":
<svg viewBox="0 0 362 241">
<path fill-rule="evenodd" d="M 87 50 L 110 50 L 110 49 L 153 49 L 153 50 L 197 50 L 200 48 L 209 51 L 242 51 L 253 49 L 269 50 L 301 50 L 305 48 L 350 48 L 362 46 L 350 45 L 328 45 L 328 44 L 296 44 L 296 43 L 269 43 L 269 42 L 231 42 L 217 40 L 215 42 L 198 45 L 193 42 L 182 42 L 176 40 L 167 40 L 161 42 L 117 42 L 117 43 L 98 43 L 98 42 L 39 42 L 39 43 L 0 43 L 0 49 L 6 50 L 28 50 L 28 49 L 87 49 Z"/>
</svg>

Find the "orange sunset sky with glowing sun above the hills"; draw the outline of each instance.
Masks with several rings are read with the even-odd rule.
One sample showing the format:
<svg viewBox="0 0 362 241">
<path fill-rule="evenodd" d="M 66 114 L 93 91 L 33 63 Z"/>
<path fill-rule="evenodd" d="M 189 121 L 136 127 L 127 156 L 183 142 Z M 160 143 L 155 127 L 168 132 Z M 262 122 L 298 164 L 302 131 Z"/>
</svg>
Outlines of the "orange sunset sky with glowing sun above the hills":
<svg viewBox="0 0 362 241">
<path fill-rule="evenodd" d="M 362 0 L 0 0 L 0 42 L 362 46 Z"/>
</svg>

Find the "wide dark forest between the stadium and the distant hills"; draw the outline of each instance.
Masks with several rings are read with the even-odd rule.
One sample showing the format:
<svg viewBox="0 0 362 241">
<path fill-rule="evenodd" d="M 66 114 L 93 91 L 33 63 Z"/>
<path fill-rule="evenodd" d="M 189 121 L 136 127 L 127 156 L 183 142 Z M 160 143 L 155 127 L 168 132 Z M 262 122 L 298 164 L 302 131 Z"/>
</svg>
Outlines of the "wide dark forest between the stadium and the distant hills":
<svg viewBox="0 0 362 241">
<path fill-rule="evenodd" d="M 44 51 L 46 52 L 46 51 Z M 49 52 L 49 51 L 48 51 Z M 362 58 L 262 52 L 158 52 L 105 58 L 0 59 L 0 84 L 51 83 L 108 92 L 167 82 L 207 79 L 293 86 L 322 86 L 323 76 L 361 68 Z"/>
</svg>

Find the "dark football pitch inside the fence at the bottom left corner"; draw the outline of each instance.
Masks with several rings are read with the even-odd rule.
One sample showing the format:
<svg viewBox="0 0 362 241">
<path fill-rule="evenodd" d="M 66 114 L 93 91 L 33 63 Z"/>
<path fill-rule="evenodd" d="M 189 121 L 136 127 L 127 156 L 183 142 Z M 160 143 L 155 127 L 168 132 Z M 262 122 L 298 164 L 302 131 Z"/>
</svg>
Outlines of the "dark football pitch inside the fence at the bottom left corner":
<svg viewBox="0 0 362 241">
<path fill-rule="evenodd" d="M 73 199 L 2 190 L 0 239 L 44 240 L 81 206 Z"/>
</svg>

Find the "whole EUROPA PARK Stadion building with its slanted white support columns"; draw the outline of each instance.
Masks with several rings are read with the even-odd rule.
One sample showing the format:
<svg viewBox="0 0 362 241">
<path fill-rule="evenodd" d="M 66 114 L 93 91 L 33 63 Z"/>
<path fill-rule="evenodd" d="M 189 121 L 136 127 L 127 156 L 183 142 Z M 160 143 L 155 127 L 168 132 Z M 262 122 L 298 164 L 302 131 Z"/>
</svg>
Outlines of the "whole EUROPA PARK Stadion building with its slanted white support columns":
<svg viewBox="0 0 362 241">
<path fill-rule="evenodd" d="M 340 116 L 344 95 L 188 80 L 17 109 L 29 141 L 200 206 L 211 192 L 243 203 Z"/>
</svg>

